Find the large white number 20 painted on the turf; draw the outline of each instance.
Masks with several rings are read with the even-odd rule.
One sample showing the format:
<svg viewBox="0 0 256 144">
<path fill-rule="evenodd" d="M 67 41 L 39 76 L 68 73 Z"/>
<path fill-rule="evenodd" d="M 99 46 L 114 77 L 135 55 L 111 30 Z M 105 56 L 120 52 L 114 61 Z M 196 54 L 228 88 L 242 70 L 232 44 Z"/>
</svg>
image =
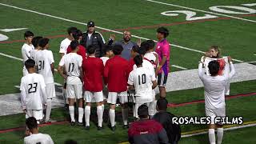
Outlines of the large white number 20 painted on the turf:
<svg viewBox="0 0 256 144">
<path fill-rule="evenodd" d="M 248 7 L 244 7 L 244 6 L 256 6 L 256 3 L 242 4 L 242 5 L 243 6 L 211 6 L 209 7 L 209 9 L 218 13 L 223 13 L 223 14 L 255 14 L 256 13 L 256 10 Z M 162 12 L 161 14 L 170 16 L 170 17 L 178 16 L 179 14 L 186 14 L 186 21 L 218 18 L 218 16 L 212 15 L 212 14 L 204 14 L 204 16 L 195 17 L 196 12 L 190 11 L 190 10 L 172 10 L 172 11 Z"/>
</svg>

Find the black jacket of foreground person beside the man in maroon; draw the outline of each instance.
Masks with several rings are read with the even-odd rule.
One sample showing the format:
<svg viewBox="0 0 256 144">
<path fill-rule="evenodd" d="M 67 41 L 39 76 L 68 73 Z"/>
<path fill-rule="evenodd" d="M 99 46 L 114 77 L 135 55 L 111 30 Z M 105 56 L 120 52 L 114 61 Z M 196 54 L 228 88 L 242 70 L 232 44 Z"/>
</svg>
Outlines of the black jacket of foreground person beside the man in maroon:
<svg viewBox="0 0 256 144">
<path fill-rule="evenodd" d="M 181 128 L 177 124 L 173 124 L 172 118 L 174 114 L 170 114 L 166 111 L 159 111 L 154 114 L 154 120 L 161 123 L 162 127 L 166 130 L 168 139 L 170 143 L 178 142 L 181 138 Z"/>
</svg>

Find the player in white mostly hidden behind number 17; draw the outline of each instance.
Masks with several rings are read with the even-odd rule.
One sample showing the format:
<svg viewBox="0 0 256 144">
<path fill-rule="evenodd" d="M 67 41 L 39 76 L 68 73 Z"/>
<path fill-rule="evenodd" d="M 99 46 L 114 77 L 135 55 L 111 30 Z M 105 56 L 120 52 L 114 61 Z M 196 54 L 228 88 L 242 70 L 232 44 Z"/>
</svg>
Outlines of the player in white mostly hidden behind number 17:
<svg viewBox="0 0 256 144">
<path fill-rule="evenodd" d="M 70 46 L 70 42 L 74 40 L 73 34 L 76 33 L 78 29 L 76 27 L 70 27 L 67 29 L 67 36 L 65 39 L 62 40 L 60 48 L 59 48 L 59 53 L 61 54 L 61 58 L 63 55 L 66 54 L 66 50 L 68 46 Z M 65 73 L 65 71 L 64 71 Z M 68 108 L 69 102 L 68 99 L 66 98 L 66 82 L 64 82 L 63 90 L 62 90 L 64 102 L 65 102 L 65 109 Z"/>
</svg>

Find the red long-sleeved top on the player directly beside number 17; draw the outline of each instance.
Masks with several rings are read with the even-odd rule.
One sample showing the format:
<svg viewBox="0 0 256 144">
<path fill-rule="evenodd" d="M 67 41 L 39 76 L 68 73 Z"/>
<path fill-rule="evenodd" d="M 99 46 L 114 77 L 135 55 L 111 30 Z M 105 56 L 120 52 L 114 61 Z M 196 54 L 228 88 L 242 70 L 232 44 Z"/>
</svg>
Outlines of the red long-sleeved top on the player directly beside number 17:
<svg viewBox="0 0 256 144">
<path fill-rule="evenodd" d="M 102 59 L 88 57 L 82 62 L 84 88 L 87 91 L 99 92 L 103 88 L 104 65 Z"/>
</svg>

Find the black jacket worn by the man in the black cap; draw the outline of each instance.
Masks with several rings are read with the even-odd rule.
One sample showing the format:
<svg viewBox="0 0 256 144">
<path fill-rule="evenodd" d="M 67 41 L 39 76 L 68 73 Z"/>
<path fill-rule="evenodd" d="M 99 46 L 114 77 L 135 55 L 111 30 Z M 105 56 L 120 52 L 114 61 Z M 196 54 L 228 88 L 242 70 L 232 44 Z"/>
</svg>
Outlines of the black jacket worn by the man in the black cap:
<svg viewBox="0 0 256 144">
<path fill-rule="evenodd" d="M 103 42 L 103 38 L 102 35 L 95 32 L 91 35 L 90 40 L 88 41 L 88 31 L 86 33 L 82 34 L 82 41 L 80 42 L 80 44 L 82 46 L 85 46 L 86 48 L 89 45 L 94 45 L 96 47 L 96 54 L 95 56 L 100 58 L 103 56 L 103 46 L 104 46 L 104 42 Z"/>
</svg>

